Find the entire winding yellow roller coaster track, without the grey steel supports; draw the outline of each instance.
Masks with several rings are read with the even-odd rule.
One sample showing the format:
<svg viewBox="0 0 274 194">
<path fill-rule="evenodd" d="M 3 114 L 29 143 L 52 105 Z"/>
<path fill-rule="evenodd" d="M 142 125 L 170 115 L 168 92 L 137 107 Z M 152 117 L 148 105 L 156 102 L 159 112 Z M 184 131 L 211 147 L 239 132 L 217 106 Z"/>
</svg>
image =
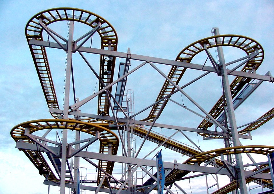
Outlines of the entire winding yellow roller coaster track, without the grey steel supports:
<svg viewBox="0 0 274 194">
<path fill-rule="evenodd" d="M 82 9 L 76 9 L 76 8 L 48 9 L 46 11 L 42 11 L 36 14 L 29 20 L 29 22 L 26 25 L 25 33 L 26 33 L 27 40 L 30 41 L 34 39 L 34 40 L 43 41 L 42 33 L 45 28 L 43 27 L 43 25 L 48 26 L 49 24 L 57 21 L 76 21 L 76 22 L 84 23 L 92 28 L 98 27 L 100 23 L 101 26 L 97 30 L 97 32 L 101 38 L 101 49 L 111 50 L 111 51 L 117 50 L 118 37 L 112 25 L 110 25 L 110 23 L 108 23 L 108 21 L 106 21 L 104 18 L 92 12 L 85 11 Z M 217 39 L 220 39 L 221 41 L 217 41 Z M 63 40 L 63 41 L 67 45 L 67 41 L 66 40 Z M 241 72 L 251 73 L 252 71 L 257 70 L 257 68 L 261 65 L 264 58 L 264 52 L 261 45 L 249 37 L 245 37 L 241 35 L 217 35 L 217 36 L 207 37 L 207 38 L 198 40 L 188 45 L 178 54 L 176 61 L 190 63 L 193 57 L 196 56 L 198 53 L 205 51 L 209 48 L 220 47 L 220 46 L 237 47 L 243 50 L 247 54 L 247 56 L 251 56 L 251 55 L 254 56 L 256 52 L 258 53 L 256 56 L 250 57 L 250 60 L 248 60 L 244 64 L 243 68 L 241 69 Z M 31 51 L 33 62 L 35 64 L 35 68 L 37 70 L 37 74 L 39 77 L 39 81 L 41 83 L 41 87 L 43 89 L 43 93 L 44 93 L 47 105 L 49 108 L 59 109 L 59 104 L 57 101 L 57 96 L 56 96 L 56 92 L 53 85 L 53 80 L 52 80 L 51 71 L 49 68 L 49 62 L 47 59 L 45 47 L 29 44 L 29 48 Z M 100 55 L 99 76 L 100 76 L 100 79 L 103 81 L 103 83 L 99 82 L 99 91 L 104 88 L 104 85 L 107 86 L 108 84 L 113 82 L 114 66 L 115 66 L 115 56 L 109 57 L 103 54 Z M 186 68 L 173 65 L 168 74 L 168 78 L 178 85 L 185 72 L 186 72 Z M 252 80 L 251 78 L 243 78 L 243 77 L 236 76 L 236 78 L 230 84 L 232 98 L 235 98 L 237 94 L 241 91 L 241 89 L 245 87 L 247 84 L 249 84 L 251 80 Z M 111 89 L 112 87 L 108 88 L 110 92 L 111 92 Z M 155 102 L 173 93 L 175 89 L 176 88 L 168 80 L 166 80 Z M 161 111 L 166 106 L 167 102 L 168 102 L 168 99 L 164 99 L 158 102 L 157 104 L 155 104 L 154 106 L 152 106 L 152 109 L 148 117 L 143 119 L 142 121 L 153 122 L 156 116 L 159 116 L 161 114 Z M 221 98 L 217 101 L 215 106 L 213 106 L 213 108 L 209 112 L 209 114 L 214 119 L 217 119 L 217 117 L 222 112 L 224 112 L 223 102 L 224 102 L 224 97 L 221 96 Z M 108 97 L 106 93 L 101 92 L 98 95 L 98 115 L 109 116 L 109 110 L 110 110 L 110 102 L 108 100 Z M 269 121 L 271 118 L 274 117 L 273 112 L 274 112 L 274 108 L 272 108 L 271 110 L 269 110 L 269 112 L 261 116 L 257 120 L 257 122 L 254 122 L 248 125 L 245 129 L 239 131 L 238 133 L 240 135 L 243 135 L 250 132 L 251 130 L 257 129 L 259 126 L 263 125 L 265 122 Z M 26 142 L 26 143 L 36 144 L 36 146 L 39 147 L 39 144 L 40 144 L 39 142 L 41 142 L 42 144 L 46 144 L 46 142 L 41 139 L 40 139 L 41 141 L 39 140 L 34 141 L 33 139 L 29 137 L 30 135 L 28 135 L 28 133 L 35 134 L 35 132 L 44 130 L 44 129 L 45 130 L 68 129 L 68 130 L 76 130 L 76 131 L 90 134 L 92 136 L 96 136 L 96 132 L 99 132 L 100 134 L 99 135 L 99 140 L 100 140 L 99 153 L 108 153 L 108 154 L 111 153 L 111 155 L 117 155 L 119 137 L 113 132 L 114 129 L 117 130 L 117 128 L 114 128 L 113 126 L 111 126 L 111 124 L 114 124 L 113 121 L 100 120 L 100 119 L 65 120 L 65 119 L 59 119 L 62 116 L 62 114 L 60 113 L 51 112 L 51 115 L 55 119 L 33 120 L 33 121 L 28 121 L 28 122 L 24 122 L 16 125 L 11 130 L 11 136 L 16 142 Z M 123 122 L 119 123 L 119 125 L 123 125 L 123 124 L 124 124 Z M 213 123 L 204 119 L 198 126 L 198 129 L 200 128 L 203 130 L 207 130 L 212 125 Z M 186 145 L 173 141 L 172 139 L 167 139 L 164 136 L 160 136 L 156 133 L 150 132 L 147 129 L 143 128 L 142 126 L 138 126 L 138 125 L 135 126 L 135 134 L 142 138 L 147 136 L 146 139 L 149 141 L 155 142 L 157 144 L 163 143 L 162 146 L 168 149 L 171 149 L 173 151 L 176 151 L 178 153 L 181 153 L 182 155 L 186 155 L 190 157 L 188 160 L 186 160 L 183 163 L 183 164 L 189 164 L 189 165 L 200 165 L 203 162 L 208 162 L 208 164 L 210 165 L 221 167 L 223 163 L 220 159 L 216 159 L 216 157 L 223 156 L 223 155 L 243 154 L 243 153 L 248 153 L 248 154 L 257 153 L 257 154 L 267 155 L 268 153 L 274 152 L 274 147 L 271 147 L 271 146 L 240 146 L 240 147 L 229 147 L 229 148 L 217 149 L 217 150 L 202 153 L 201 151 L 192 149 Z M 210 136 L 211 138 L 224 137 L 222 135 L 209 135 L 208 133 L 199 133 L 199 134 L 204 137 Z M 110 151 L 110 145 L 111 145 L 111 151 Z M 60 170 L 58 168 L 55 168 L 55 171 L 58 175 L 56 176 L 56 173 L 54 173 L 51 170 L 46 159 L 43 157 L 41 153 L 45 150 L 43 149 L 39 151 L 33 151 L 33 150 L 27 150 L 27 149 L 20 149 L 20 150 L 23 151 L 25 155 L 27 155 L 29 160 L 39 170 L 39 173 L 41 175 L 45 176 L 50 181 L 54 181 L 56 183 L 60 182 L 60 179 L 59 179 Z M 209 162 L 210 160 L 213 161 L 212 159 L 214 159 L 214 163 Z M 114 162 L 99 160 L 98 167 L 102 169 L 103 171 L 105 171 L 106 174 L 108 173 L 111 175 L 114 168 Z M 265 167 L 266 167 L 266 170 L 262 172 L 268 173 L 269 172 L 269 168 L 267 168 L 268 165 L 260 166 L 261 169 Z M 257 170 L 258 168 L 255 168 L 252 171 L 255 172 Z M 188 173 L 190 173 L 190 171 L 183 171 L 178 169 L 171 170 L 171 172 L 165 178 L 166 185 L 170 185 L 174 183 L 175 181 L 181 179 Z M 97 184 L 101 182 L 101 180 L 104 178 L 104 175 L 105 174 L 102 171 L 98 171 Z M 247 183 L 251 181 L 256 181 L 256 179 L 251 177 L 246 179 Z M 266 179 L 262 179 L 262 181 L 265 184 L 269 184 L 269 183 L 272 184 L 272 181 L 269 181 Z M 70 182 L 72 182 L 71 179 L 66 180 L 66 183 L 70 183 Z M 105 180 L 102 183 L 102 186 L 107 188 L 109 187 L 109 184 Z M 228 193 L 230 191 L 235 190 L 236 188 L 237 188 L 236 181 L 233 181 L 229 183 L 228 185 L 222 187 L 221 189 L 215 191 L 215 193 Z"/>
</svg>

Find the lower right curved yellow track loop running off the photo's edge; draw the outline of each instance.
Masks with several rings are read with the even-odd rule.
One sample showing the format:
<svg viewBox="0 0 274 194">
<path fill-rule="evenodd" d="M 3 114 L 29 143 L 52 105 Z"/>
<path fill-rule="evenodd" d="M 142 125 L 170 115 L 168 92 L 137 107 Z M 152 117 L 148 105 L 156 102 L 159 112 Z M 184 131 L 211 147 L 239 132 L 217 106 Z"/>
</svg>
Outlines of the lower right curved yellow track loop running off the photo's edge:
<svg viewBox="0 0 274 194">
<path fill-rule="evenodd" d="M 256 145 L 254 145 L 254 146 L 237 146 L 237 147 L 221 148 L 221 149 L 211 150 L 211 151 L 207 151 L 207 152 L 203 152 L 203 153 L 194 155 L 194 156 L 190 157 L 188 160 L 186 160 L 183 164 L 190 164 L 190 165 L 198 164 L 198 165 L 200 165 L 203 162 L 207 162 L 210 159 L 214 159 L 215 157 L 221 156 L 221 154 L 231 155 L 231 154 L 255 153 L 255 154 L 267 155 L 268 153 L 273 153 L 273 152 L 274 152 L 273 146 L 256 146 Z M 219 166 L 223 166 L 223 164 L 221 163 L 220 160 L 216 159 L 216 163 Z M 266 165 L 266 166 L 268 166 L 268 165 Z M 261 166 L 261 167 L 264 167 L 264 166 Z M 252 171 L 257 171 L 257 170 L 258 169 L 255 168 Z M 269 169 L 266 169 L 264 171 L 264 173 L 268 173 L 268 172 L 269 172 Z M 173 170 L 169 175 L 166 176 L 165 181 L 172 182 L 174 180 L 184 177 L 188 173 L 189 173 L 189 171 Z M 255 181 L 255 179 L 247 178 L 246 181 L 247 181 L 247 183 L 249 183 L 251 181 Z M 265 183 L 269 183 L 268 180 L 262 179 L 262 181 Z M 224 188 L 222 188 L 222 192 L 229 193 L 230 190 L 228 191 L 226 189 L 232 189 L 232 190 L 236 189 L 236 184 L 234 186 L 233 186 L 233 184 L 235 184 L 235 183 L 232 182 L 232 183 L 229 183 L 228 185 L 226 185 Z M 217 191 L 215 191 L 215 192 L 218 193 Z"/>
</svg>

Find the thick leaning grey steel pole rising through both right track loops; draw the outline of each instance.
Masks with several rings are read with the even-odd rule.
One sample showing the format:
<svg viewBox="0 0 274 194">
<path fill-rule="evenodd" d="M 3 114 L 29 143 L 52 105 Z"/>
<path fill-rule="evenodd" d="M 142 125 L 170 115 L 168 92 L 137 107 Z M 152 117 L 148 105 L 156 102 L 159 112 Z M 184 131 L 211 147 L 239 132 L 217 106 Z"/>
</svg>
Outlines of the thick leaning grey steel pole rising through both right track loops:
<svg viewBox="0 0 274 194">
<path fill-rule="evenodd" d="M 213 28 L 212 31 L 214 32 L 215 36 L 220 35 L 219 28 Z M 221 41 L 221 40 L 219 38 L 217 38 L 217 41 Z M 235 118 L 235 113 L 234 113 L 234 107 L 233 107 L 233 102 L 232 102 L 232 97 L 231 97 L 231 92 L 230 92 L 229 80 L 228 80 L 228 75 L 227 75 L 227 70 L 226 70 L 226 65 L 225 65 L 223 48 L 217 47 L 217 50 L 218 50 L 217 52 L 218 52 L 218 57 L 219 57 L 219 62 L 220 62 L 219 68 L 221 70 L 221 77 L 222 77 L 222 81 L 223 81 L 225 98 L 227 101 L 227 112 L 228 112 L 228 117 L 229 117 L 229 121 L 230 121 L 233 146 L 240 146 L 236 118 Z M 243 160 L 242 160 L 241 154 L 235 154 L 235 159 L 236 159 L 237 181 L 239 182 L 239 185 L 240 185 L 241 194 L 247 194 L 245 172 L 244 172 L 244 168 L 243 168 Z"/>
</svg>

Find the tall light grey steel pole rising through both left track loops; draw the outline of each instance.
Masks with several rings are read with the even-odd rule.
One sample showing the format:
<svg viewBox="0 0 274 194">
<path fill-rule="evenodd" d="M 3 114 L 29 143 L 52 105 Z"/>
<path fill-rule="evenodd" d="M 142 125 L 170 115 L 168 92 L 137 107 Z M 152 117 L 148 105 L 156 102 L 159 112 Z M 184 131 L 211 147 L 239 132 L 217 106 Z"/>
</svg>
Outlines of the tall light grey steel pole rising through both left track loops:
<svg viewBox="0 0 274 194">
<path fill-rule="evenodd" d="M 65 82 L 65 102 L 64 102 L 64 119 L 68 119 L 69 99 L 70 99 L 70 75 L 72 64 L 72 47 L 73 47 L 73 30 L 74 22 L 70 21 L 70 30 L 67 43 L 67 70 Z M 67 130 L 63 130 L 62 140 L 62 161 L 61 161 L 61 180 L 60 180 L 60 194 L 65 194 L 65 173 L 66 173 L 66 159 L 67 159 Z"/>
</svg>

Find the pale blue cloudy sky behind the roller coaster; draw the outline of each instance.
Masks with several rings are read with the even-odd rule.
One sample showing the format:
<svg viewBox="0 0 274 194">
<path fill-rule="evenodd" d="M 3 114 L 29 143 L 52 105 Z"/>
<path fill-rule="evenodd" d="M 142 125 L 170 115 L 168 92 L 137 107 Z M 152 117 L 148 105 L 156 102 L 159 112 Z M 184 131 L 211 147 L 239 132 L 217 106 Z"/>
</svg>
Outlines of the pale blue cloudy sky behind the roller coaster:
<svg viewBox="0 0 274 194">
<path fill-rule="evenodd" d="M 94 12 L 116 29 L 118 34 L 118 51 L 126 52 L 130 47 L 131 53 L 153 56 L 174 60 L 177 54 L 187 45 L 204 37 L 212 35 L 212 27 L 219 27 L 221 34 L 239 34 L 251 37 L 258 41 L 265 53 L 263 64 L 257 70 L 258 74 L 271 71 L 274 74 L 272 57 L 274 53 L 274 1 L 0 1 L 0 35 L 2 49 L 0 52 L 0 98 L 1 114 L 0 125 L 0 153 L 1 175 L 0 193 L 46 193 L 47 186 L 43 185 L 43 177 L 39 175 L 30 161 L 22 152 L 15 149 L 15 142 L 10 136 L 10 130 L 21 122 L 51 118 L 47 110 L 41 86 L 33 65 L 31 54 L 25 38 L 25 25 L 36 13 L 54 7 L 76 7 Z M 49 26 L 50 27 L 50 26 Z M 61 29 L 60 27 L 57 29 Z M 81 32 L 79 26 L 79 31 Z M 66 32 L 65 29 L 64 32 Z M 59 32 L 59 31 L 58 31 Z M 79 32 L 79 33 L 80 33 Z M 61 32 L 60 30 L 60 33 Z M 93 43 L 96 45 L 96 39 Z M 232 61 L 241 56 L 241 51 L 225 50 L 226 61 Z M 60 51 L 48 52 L 52 74 L 56 77 L 55 88 L 61 105 L 62 81 L 64 77 L 65 54 Z M 96 58 L 96 57 L 95 57 Z M 98 57 L 97 57 L 98 58 Z M 203 64 L 203 60 L 196 60 L 197 64 Z M 118 60 L 116 60 L 117 78 Z M 93 62 L 93 61 L 92 61 Z M 121 62 L 124 62 L 121 59 Z M 81 63 L 77 60 L 76 70 L 81 73 Z M 133 62 L 131 68 L 141 62 Z M 58 64 L 58 65 L 56 65 Z M 60 65 L 61 64 L 61 65 Z M 96 66 L 97 65 L 97 66 Z M 95 61 L 95 68 L 99 68 L 99 61 Z M 78 66 L 77 66 L 78 67 Z M 170 67 L 158 66 L 165 73 Z M 180 86 L 187 80 L 195 78 L 201 72 L 189 71 Z M 79 97 L 84 98 L 92 94 L 96 88 L 96 78 L 91 74 L 80 74 Z M 80 78 L 82 80 L 80 80 Z M 233 78 L 230 78 L 231 80 Z M 134 90 L 135 112 L 142 110 L 156 99 L 164 79 L 148 64 L 128 78 L 127 89 Z M 98 86 L 97 86 L 98 88 Z M 238 126 L 251 122 L 274 106 L 273 88 L 271 83 L 264 82 L 254 94 L 246 100 L 235 112 Z M 83 91 L 89 90 L 88 94 Z M 113 90 L 115 91 L 115 90 Z M 185 90 L 202 107 L 209 111 L 221 95 L 220 78 L 210 74 L 207 78 Z M 82 92 L 82 93 L 81 93 Z M 91 102 L 91 106 L 84 108 L 82 112 L 97 113 L 97 98 Z M 187 107 L 193 107 L 190 102 L 179 94 L 174 100 L 182 102 Z M 92 103 L 95 106 L 92 106 Z M 145 118 L 148 112 L 141 114 L 136 119 Z M 168 103 L 159 122 L 196 128 L 201 119 L 189 112 Z M 273 121 L 269 121 L 258 130 L 252 132 L 253 140 L 241 140 L 245 145 L 273 145 L 272 136 Z M 160 132 L 160 129 L 155 129 Z M 166 130 L 167 135 L 174 131 Z M 189 133 L 189 136 L 200 144 L 204 151 L 221 148 L 223 142 L 219 140 L 202 140 L 197 134 Z M 177 140 L 190 144 L 182 135 Z M 149 142 L 147 145 L 151 145 Z M 166 161 L 174 158 L 168 150 L 164 150 Z M 173 157 L 173 158 L 172 158 Z M 177 157 L 177 155 L 176 155 Z M 165 159 L 164 159 L 165 160 Z M 262 159 L 265 161 L 265 158 Z M 204 193 L 204 186 L 199 188 L 188 181 L 182 185 L 188 193 Z M 26 189 L 32 187 L 32 189 Z M 51 192 L 58 188 L 51 188 Z"/>
</svg>

